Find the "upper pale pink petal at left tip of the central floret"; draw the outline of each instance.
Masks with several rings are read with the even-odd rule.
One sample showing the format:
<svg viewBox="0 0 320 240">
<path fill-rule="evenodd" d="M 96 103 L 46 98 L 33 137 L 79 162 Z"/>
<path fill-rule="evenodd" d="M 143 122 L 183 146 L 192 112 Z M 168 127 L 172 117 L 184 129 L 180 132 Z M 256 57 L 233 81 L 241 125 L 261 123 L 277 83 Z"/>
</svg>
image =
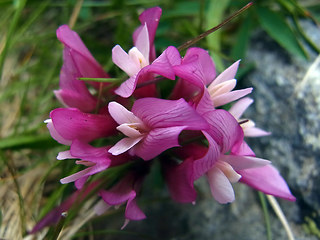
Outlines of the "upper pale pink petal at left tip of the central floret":
<svg viewBox="0 0 320 240">
<path fill-rule="evenodd" d="M 110 102 L 108 110 L 111 117 L 119 124 L 124 123 L 142 123 L 132 112 L 117 102 Z"/>
</svg>

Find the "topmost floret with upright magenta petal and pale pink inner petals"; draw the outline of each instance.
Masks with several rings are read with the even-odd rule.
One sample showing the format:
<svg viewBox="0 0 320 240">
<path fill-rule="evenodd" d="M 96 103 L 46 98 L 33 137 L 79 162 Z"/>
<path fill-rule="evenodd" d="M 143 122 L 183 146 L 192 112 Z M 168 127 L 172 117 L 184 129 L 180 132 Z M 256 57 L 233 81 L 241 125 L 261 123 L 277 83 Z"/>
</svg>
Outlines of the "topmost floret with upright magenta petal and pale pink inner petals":
<svg viewBox="0 0 320 240">
<path fill-rule="evenodd" d="M 180 64 L 180 55 L 176 48 L 168 47 L 155 59 L 154 37 L 161 16 L 159 7 L 144 11 L 139 19 L 141 26 L 133 34 L 134 47 L 126 53 L 119 45 L 112 49 L 112 61 L 128 76 L 115 93 L 121 97 L 130 97 L 136 89 L 137 83 L 153 80 L 156 75 L 174 80 L 172 66 Z M 154 60 L 155 59 L 155 60 Z M 136 91 L 138 97 L 155 97 L 154 84 Z"/>
</svg>

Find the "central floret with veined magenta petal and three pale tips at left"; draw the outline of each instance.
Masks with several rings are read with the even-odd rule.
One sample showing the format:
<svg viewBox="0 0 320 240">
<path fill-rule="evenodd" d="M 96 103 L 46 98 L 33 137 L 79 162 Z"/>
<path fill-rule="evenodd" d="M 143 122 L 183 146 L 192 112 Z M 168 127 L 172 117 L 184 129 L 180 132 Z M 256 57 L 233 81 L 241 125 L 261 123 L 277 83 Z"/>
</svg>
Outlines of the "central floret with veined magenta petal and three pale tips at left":
<svg viewBox="0 0 320 240">
<path fill-rule="evenodd" d="M 208 128 L 207 122 L 183 99 L 139 99 L 133 104 L 132 112 L 111 102 L 109 112 L 119 124 L 117 129 L 127 136 L 109 149 L 113 155 L 130 150 L 131 155 L 150 160 L 179 146 L 181 131 Z"/>
</svg>

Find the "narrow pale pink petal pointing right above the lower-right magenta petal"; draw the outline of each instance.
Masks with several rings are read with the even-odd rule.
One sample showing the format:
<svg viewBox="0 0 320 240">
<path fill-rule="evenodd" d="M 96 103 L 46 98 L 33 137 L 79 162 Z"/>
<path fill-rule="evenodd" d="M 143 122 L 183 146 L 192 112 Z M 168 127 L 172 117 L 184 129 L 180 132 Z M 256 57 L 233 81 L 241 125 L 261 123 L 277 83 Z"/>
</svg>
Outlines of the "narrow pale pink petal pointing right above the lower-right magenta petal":
<svg viewBox="0 0 320 240">
<path fill-rule="evenodd" d="M 219 160 L 229 163 L 236 171 L 247 168 L 263 167 L 271 163 L 262 158 L 236 155 L 222 155 Z"/>
</svg>

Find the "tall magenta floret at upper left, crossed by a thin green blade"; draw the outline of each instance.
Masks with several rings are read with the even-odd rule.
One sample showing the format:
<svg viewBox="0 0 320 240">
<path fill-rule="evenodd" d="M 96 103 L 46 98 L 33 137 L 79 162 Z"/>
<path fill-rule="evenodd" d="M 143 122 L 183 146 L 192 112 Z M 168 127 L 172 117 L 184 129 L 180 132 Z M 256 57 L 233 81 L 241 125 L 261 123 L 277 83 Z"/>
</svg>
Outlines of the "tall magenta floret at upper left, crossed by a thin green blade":
<svg viewBox="0 0 320 240">
<path fill-rule="evenodd" d="M 78 34 L 67 25 L 57 29 L 57 37 L 63 43 L 64 50 L 60 89 L 54 93 L 65 106 L 75 107 L 83 112 L 92 112 L 98 100 L 89 92 L 85 82 L 78 78 L 108 78 L 109 76 L 93 58 Z M 96 88 L 100 85 L 97 82 L 91 82 L 91 84 Z"/>
</svg>

